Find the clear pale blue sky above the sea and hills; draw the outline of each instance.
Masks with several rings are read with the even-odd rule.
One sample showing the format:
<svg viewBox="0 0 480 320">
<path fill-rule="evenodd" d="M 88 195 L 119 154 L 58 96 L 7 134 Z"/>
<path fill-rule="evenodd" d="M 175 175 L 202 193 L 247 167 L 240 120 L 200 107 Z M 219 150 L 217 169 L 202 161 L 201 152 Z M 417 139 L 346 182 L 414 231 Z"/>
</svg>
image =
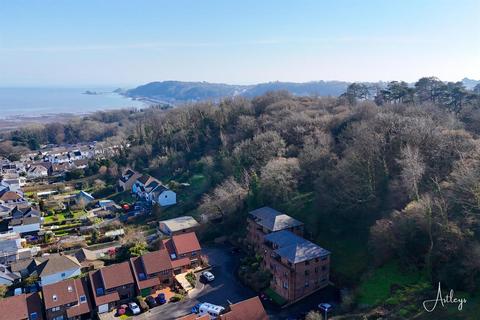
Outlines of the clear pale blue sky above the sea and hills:
<svg viewBox="0 0 480 320">
<path fill-rule="evenodd" d="M 480 79 L 478 0 L 2 1 L 0 86 Z"/>
</svg>

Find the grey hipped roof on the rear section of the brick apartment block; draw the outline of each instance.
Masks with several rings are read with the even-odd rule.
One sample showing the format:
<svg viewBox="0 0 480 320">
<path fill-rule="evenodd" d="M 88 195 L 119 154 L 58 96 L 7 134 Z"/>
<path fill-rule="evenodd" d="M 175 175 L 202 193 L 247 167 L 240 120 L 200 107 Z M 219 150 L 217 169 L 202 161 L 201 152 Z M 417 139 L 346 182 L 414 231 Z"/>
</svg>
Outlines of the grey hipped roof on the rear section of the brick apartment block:
<svg viewBox="0 0 480 320">
<path fill-rule="evenodd" d="M 303 225 L 303 222 L 270 207 L 250 211 L 250 215 L 257 224 L 272 232 Z"/>
</svg>

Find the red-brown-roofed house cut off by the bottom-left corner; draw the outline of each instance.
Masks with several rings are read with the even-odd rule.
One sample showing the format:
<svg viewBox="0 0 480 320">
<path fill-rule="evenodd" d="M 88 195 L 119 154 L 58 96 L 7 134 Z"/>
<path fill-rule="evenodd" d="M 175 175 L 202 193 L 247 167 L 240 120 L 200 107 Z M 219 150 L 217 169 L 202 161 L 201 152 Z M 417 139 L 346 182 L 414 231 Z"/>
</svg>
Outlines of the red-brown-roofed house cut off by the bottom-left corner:
<svg viewBox="0 0 480 320">
<path fill-rule="evenodd" d="M 38 292 L 0 299 L 0 320 L 43 319 L 43 303 Z"/>
</svg>

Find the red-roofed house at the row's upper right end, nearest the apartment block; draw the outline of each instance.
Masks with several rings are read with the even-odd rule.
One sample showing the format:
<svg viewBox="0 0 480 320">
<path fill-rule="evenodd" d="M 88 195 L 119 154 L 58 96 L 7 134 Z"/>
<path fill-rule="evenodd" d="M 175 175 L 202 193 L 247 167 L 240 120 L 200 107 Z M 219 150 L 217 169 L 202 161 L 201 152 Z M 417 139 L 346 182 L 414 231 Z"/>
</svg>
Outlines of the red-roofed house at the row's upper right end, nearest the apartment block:
<svg viewBox="0 0 480 320">
<path fill-rule="evenodd" d="M 175 235 L 170 239 L 163 240 L 162 245 L 170 255 L 175 274 L 181 273 L 187 268 L 195 268 L 200 265 L 199 258 L 202 247 L 195 232 Z M 188 258 L 189 261 L 184 258 Z M 188 265 L 185 264 L 187 262 L 189 262 Z"/>
</svg>

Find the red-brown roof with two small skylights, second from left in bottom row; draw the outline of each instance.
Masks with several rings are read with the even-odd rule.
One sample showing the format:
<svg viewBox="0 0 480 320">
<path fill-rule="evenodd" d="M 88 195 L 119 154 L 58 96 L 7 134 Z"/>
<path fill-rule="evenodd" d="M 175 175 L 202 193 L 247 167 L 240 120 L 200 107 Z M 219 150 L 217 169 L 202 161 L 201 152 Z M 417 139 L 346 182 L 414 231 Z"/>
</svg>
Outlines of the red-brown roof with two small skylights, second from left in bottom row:
<svg viewBox="0 0 480 320">
<path fill-rule="evenodd" d="M 68 317 L 74 317 L 91 311 L 88 295 L 87 279 L 67 279 L 42 287 L 45 308 L 50 309 L 65 304 L 77 303 L 67 310 Z M 86 302 L 80 303 L 80 297 L 85 296 Z"/>
</svg>

